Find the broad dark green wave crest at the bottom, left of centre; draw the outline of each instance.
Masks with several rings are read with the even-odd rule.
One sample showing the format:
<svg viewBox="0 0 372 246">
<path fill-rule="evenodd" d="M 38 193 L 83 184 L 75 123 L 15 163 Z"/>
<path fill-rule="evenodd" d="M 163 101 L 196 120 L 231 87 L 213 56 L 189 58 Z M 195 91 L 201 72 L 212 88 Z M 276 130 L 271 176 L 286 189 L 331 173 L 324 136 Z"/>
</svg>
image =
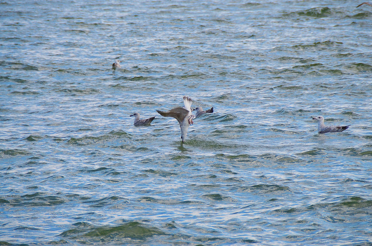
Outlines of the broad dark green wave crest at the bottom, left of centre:
<svg viewBox="0 0 372 246">
<path fill-rule="evenodd" d="M 91 228 L 75 228 L 62 232 L 60 236 L 77 242 L 121 243 L 130 240 L 144 240 L 147 237 L 167 235 L 157 227 L 138 222 L 128 222 L 118 226 L 97 226 Z M 84 243 L 86 244 L 86 243 Z"/>
</svg>

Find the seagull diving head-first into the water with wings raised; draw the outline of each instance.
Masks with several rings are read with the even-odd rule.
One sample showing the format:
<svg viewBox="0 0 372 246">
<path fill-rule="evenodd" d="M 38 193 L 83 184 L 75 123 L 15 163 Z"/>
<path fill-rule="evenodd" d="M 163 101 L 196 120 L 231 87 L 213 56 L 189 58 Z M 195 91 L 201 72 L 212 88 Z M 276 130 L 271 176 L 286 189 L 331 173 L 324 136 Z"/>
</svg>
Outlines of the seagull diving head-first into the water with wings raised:
<svg viewBox="0 0 372 246">
<path fill-rule="evenodd" d="M 185 108 L 182 107 L 176 107 L 174 109 L 171 109 L 167 112 L 156 110 L 159 114 L 161 114 L 164 117 L 173 117 L 178 121 L 181 128 L 181 139 L 182 142 L 185 141 L 187 130 L 189 129 L 190 124 L 193 124 L 192 121 L 195 116 L 191 114 L 191 104 L 192 99 L 190 97 L 183 97 L 183 104 L 185 104 Z"/>
</svg>

